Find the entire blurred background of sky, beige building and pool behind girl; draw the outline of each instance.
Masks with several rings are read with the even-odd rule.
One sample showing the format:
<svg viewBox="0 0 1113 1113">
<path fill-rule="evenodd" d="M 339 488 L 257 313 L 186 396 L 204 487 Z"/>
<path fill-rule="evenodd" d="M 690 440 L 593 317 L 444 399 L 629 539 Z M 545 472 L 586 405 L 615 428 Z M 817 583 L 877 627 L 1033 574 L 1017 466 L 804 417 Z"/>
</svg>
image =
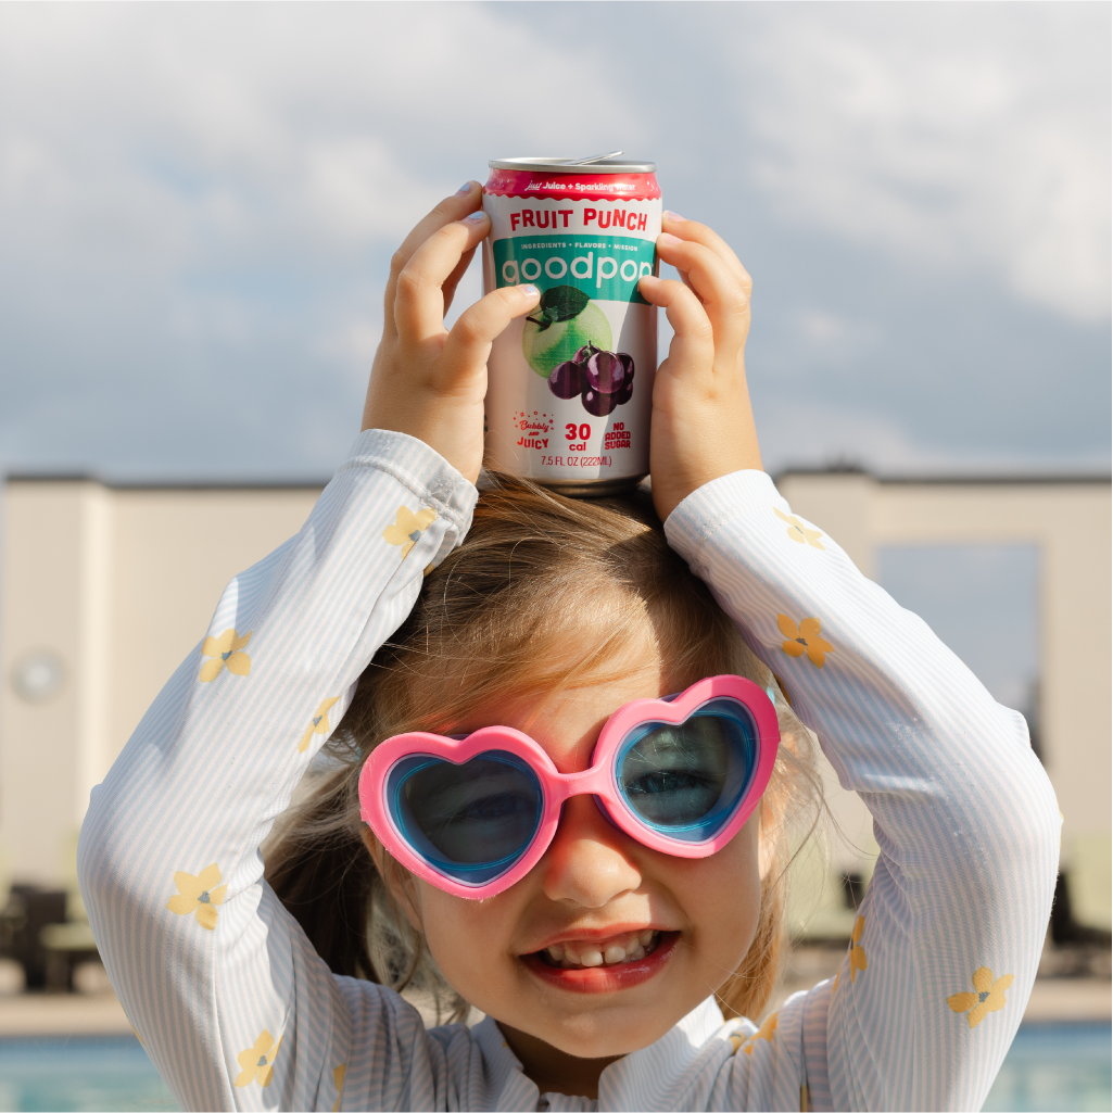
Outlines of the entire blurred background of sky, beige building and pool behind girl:
<svg viewBox="0 0 1113 1113">
<path fill-rule="evenodd" d="M 1109 1107 L 1110 24 L 1100 3 L 0 6 L 0 1036 L 68 1036 L 72 1066 L 76 1033 L 122 1033 L 80 1045 L 83 1096 L 49 1042 L 0 1038 L 0 1105 L 169 1102 L 83 920 L 89 788 L 343 460 L 408 228 L 487 158 L 621 148 L 754 275 L 782 492 L 1025 713 L 1055 784 L 1045 976 L 987 1107 L 1084 1107 L 1063 1086 L 1091 1075 Z M 459 302 L 479 294 L 473 267 Z M 868 886 L 844 797 L 798 866 L 789 986 L 834 969 Z"/>
</svg>

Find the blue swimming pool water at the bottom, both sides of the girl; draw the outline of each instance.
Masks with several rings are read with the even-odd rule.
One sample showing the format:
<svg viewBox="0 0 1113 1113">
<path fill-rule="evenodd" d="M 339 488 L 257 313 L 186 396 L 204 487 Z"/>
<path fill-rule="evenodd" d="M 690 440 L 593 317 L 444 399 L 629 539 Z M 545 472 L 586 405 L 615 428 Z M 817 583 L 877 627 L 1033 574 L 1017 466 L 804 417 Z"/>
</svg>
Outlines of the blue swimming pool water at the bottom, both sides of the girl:
<svg viewBox="0 0 1113 1113">
<path fill-rule="evenodd" d="M 1109 1024 L 1025 1024 L 983 1109 L 1109 1110 Z M 131 1036 L 0 1040 L 0 1110 L 177 1110 Z"/>
</svg>

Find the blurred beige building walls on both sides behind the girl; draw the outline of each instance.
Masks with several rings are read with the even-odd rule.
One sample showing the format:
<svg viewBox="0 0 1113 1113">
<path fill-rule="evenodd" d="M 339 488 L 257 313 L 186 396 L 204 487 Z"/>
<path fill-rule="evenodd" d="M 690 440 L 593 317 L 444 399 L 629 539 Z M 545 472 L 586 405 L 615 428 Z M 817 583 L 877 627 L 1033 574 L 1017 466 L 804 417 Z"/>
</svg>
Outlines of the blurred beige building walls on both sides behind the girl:
<svg viewBox="0 0 1113 1113">
<path fill-rule="evenodd" d="M 1064 815 L 1075 917 L 1110 925 L 1110 483 L 893 482 L 791 473 L 794 510 L 874 574 L 894 544 L 1036 545 L 1041 756 Z M 11 477 L 3 490 L 0 887 L 72 888 L 77 833 L 144 711 L 205 634 L 225 583 L 295 533 L 319 485 L 110 486 Z M 798 932 L 845 935 L 876 854 L 860 802 L 827 769 L 846 840 L 805 855 Z M 986 786 L 992 794 L 993 786 Z M 168 817 L 168 821 L 173 817 Z M 841 888 L 840 888 L 841 886 Z M 2 895 L 0 895 L 2 902 Z"/>
</svg>

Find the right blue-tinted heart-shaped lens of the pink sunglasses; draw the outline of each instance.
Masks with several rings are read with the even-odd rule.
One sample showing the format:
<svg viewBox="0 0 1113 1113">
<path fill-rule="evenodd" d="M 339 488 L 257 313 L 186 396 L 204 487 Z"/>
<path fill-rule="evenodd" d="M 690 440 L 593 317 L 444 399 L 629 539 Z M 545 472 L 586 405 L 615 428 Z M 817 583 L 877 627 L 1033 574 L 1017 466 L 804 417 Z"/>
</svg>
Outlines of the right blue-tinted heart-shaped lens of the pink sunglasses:
<svg viewBox="0 0 1113 1113">
<path fill-rule="evenodd" d="M 647 826 L 683 843 L 713 838 L 754 780 L 757 727 L 743 703 L 713 699 L 687 721 L 646 722 L 619 751 L 618 788 Z"/>
</svg>

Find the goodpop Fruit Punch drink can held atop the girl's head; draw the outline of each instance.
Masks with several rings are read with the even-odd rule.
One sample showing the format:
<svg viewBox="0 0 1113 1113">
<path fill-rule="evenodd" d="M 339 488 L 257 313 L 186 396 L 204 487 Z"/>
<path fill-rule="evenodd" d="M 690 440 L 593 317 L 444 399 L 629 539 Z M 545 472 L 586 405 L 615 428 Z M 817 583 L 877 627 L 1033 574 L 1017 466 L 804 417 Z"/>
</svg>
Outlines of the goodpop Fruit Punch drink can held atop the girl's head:
<svg viewBox="0 0 1113 1113">
<path fill-rule="evenodd" d="M 657 166 L 621 158 L 489 164 L 484 293 L 531 283 L 538 307 L 495 339 L 487 363 L 486 466 L 569 495 L 603 495 L 649 474 L 658 272 Z"/>
</svg>

